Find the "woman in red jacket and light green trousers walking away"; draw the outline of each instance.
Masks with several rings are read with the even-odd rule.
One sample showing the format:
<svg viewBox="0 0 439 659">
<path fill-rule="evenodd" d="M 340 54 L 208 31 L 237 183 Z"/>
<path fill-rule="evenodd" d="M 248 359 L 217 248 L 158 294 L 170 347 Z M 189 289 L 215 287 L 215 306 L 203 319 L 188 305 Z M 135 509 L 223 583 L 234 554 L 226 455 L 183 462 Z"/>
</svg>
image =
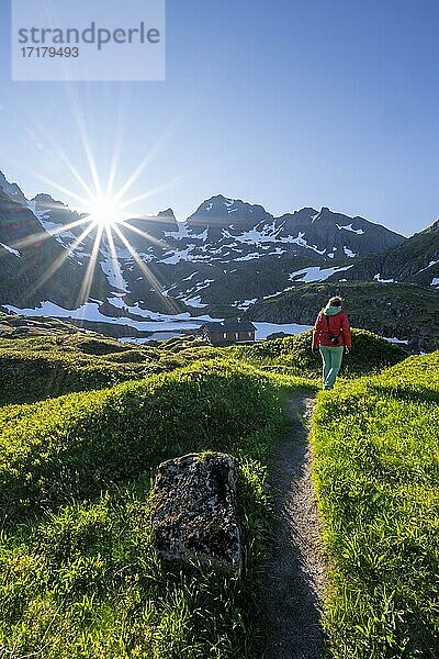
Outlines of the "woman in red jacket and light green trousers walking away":
<svg viewBox="0 0 439 659">
<path fill-rule="evenodd" d="M 333 389 L 340 370 L 344 353 L 351 348 L 348 316 L 341 309 L 341 298 L 330 298 L 318 313 L 313 330 L 313 350 L 317 347 L 323 359 L 323 388 Z"/>
</svg>

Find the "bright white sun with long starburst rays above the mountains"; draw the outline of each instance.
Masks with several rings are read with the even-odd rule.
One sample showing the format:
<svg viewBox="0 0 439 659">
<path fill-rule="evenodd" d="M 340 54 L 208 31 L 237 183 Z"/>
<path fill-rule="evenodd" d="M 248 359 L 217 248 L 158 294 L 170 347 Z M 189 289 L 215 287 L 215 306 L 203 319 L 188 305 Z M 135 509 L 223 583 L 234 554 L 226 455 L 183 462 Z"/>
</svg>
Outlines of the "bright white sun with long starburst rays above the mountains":
<svg viewBox="0 0 439 659">
<path fill-rule="evenodd" d="M 34 178 L 50 186 L 53 190 L 60 192 L 63 199 L 66 199 L 66 202 L 70 204 L 70 208 L 77 211 L 78 217 L 66 224 L 57 222 L 58 226 L 53 228 L 47 228 L 47 225 L 44 225 L 44 231 L 29 235 L 14 244 L 16 249 L 26 249 L 32 248 L 32 246 L 41 246 L 45 241 L 54 237 L 66 247 L 66 252 L 61 256 L 54 258 L 54 261 L 48 265 L 46 271 L 35 281 L 32 291 L 27 290 L 24 293 L 23 301 L 35 292 L 35 290 L 48 282 L 67 259 L 75 258 L 75 253 L 78 247 L 80 247 L 81 243 L 87 242 L 87 250 L 90 250 L 91 254 L 80 286 L 78 302 L 87 303 L 89 300 L 89 293 L 95 277 L 95 267 L 97 264 L 99 264 L 100 254 L 105 259 L 109 259 L 110 256 L 114 276 L 113 281 L 116 282 L 115 288 L 126 292 L 127 289 L 123 277 L 122 258 L 126 259 L 126 254 L 130 254 L 128 258 L 131 263 L 128 267 L 132 268 L 133 265 L 138 267 L 140 275 L 145 279 L 145 284 L 148 287 L 148 291 L 155 291 L 160 295 L 164 305 L 169 309 L 170 312 L 175 313 L 176 304 L 172 303 L 172 300 L 162 294 L 165 287 L 159 281 L 156 269 L 153 270 L 150 266 L 146 265 L 142 254 L 138 254 L 127 239 L 125 232 L 142 236 L 144 241 L 153 245 L 169 249 L 169 246 L 165 241 L 151 235 L 150 225 L 151 222 L 155 221 L 155 216 L 145 214 L 138 215 L 132 211 L 132 208 L 135 204 L 138 204 L 138 202 L 161 192 L 164 189 L 169 189 L 176 183 L 180 183 L 181 177 L 170 180 L 165 186 L 149 187 L 142 194 L 133 196 L 130 194 L 130 191 L 166 145 L 176 130 L 176 124 L 173 122 L 173 124 L 164 132 L 161 137 L 153 145 L 139 165 L 136 166 L 133 172 L 117 186 L 117 169 L 123 144 L 122 136 L 125 129 L 122 125 L 119 126 L 119 131 L 115 134 L 113 154 L 110 158 L 108 176 L 106 178 L 101 177 L 97 157 L 91 147 L 87 119 L 80 105 L 79 97 L 76 94 L 75 88 L 69 83 L 66 87 L 66 91 L 72 116 L 77 124 L 78 139 L 86 156 L 89 174 L 86 175 L 85 172 L 79 172 L 78 168 L 71 163 L 69 154 L 65 153 L 61 147 L 56 144 L 49 131 L 47 131 L 45 135 L 42 135 L 42 142 L 52 145 L 53 158 L 58 161 L 59 166 L 64 166 L 68 171 L 69 178 L 75 183 L 75 187 L 69 189 L 65 185 L 60 185 L 59 181 L 49 179 L 35 170 L 30 171 L 30 174 L 32 174 Z M 37 126 L 36 124 L 34 129 L 35 134 L 45 132 L 42 126 Z M 26 170 L 26 167 L 23 166 L 23 164 L 14 163 L 14 165 L 15 167 Z M 36 215 L 38 214 L 38 211 L 35 211 L 32 206 L 30 208 Z M 45 205 L 44 210 L 59 211 L 59 203 L 48 203 Z M 74 234 L 74 242 L 70 241 L 71 234 Z M 66 242 L 68 243 L 67 245 Z M 120 249 L 121 247 L 122 250 Z M 122 254 L 125 254 L 125 256 L 121 256 Z M 114 283 L 112 286 L 114 286 Z"/>
</svg>

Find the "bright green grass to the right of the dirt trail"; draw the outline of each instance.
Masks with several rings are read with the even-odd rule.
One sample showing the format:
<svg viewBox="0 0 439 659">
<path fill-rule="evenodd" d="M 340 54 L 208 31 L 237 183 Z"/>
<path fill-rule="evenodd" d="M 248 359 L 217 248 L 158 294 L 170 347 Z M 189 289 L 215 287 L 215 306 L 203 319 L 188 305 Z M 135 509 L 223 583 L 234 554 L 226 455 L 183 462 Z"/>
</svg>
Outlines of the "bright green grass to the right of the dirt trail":
<svg viewBox="0 0 439 659">
<path fill-rule="evenodd" d="M 439 656 L 439 353 L 319 394 L 315 482 L 337 659 Z"/>
</svg>

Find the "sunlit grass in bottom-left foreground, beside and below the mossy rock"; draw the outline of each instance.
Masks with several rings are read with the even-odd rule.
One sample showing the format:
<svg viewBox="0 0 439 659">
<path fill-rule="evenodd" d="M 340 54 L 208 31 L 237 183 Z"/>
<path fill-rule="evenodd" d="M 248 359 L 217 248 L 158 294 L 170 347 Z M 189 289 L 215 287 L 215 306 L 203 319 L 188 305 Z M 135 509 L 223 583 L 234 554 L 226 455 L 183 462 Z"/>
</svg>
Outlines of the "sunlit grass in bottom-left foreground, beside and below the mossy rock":
<svg viewBox="0 0 439 659">
<path fill-rule="evenodd" d="M 245 467 L 240 476 L 251 506 L 263 505 L 255 476 Z M 247 655 L 251 570 L 244 580 L 161 562 L 150 544 L 148 489 L 140 478 L 3 541 L 0 645 L 12 656 Z M 251 524 L 255 513 L 244 510 Z M 251 547 L 247 557 L 254 561 Z"/>
</svg>

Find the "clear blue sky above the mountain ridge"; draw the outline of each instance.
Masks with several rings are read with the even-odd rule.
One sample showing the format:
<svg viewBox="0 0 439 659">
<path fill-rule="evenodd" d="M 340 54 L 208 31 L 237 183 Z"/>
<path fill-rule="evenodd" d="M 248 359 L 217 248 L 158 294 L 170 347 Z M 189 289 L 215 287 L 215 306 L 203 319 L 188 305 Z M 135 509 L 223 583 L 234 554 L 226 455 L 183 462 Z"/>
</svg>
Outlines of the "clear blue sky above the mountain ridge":
<svg viewBox="0 0 439 659">
<path fill-rule="evenodd" d="M 128 7 L 130 0 L 126 0 Z M 168 0 L 165 82 L 11 82 L 0 4 L 0 169 L 27 196 L 87 178 L 74 108 L 103 179 L 150 155 L 135 206 L 185 219 L 212 194 L 304 205 L 409 235 L 439 215 L 439 3 Z M 67 198 L 65 198 L 66 201 Z M 75 203 L 71 203 L 75 205 Z"/>
</svg>

